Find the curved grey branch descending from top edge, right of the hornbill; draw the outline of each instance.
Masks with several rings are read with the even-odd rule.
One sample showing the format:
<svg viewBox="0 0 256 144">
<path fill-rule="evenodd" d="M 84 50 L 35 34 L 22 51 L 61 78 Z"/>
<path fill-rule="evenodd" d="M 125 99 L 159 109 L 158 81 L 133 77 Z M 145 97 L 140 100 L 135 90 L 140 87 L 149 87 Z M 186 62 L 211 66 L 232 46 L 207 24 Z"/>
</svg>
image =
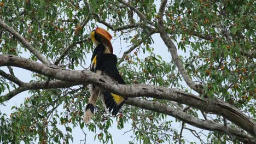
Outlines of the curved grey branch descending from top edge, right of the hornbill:
<svg viewBox="0 0 256 144">
<path fill-rule="evenodd" d="M 187 83 L 187 85 L 190 88 L 194 89 L 194 91 L 196 91 L 199 94 L 202 94 L 203 93 L 202 86 L 191 80 L 190 76 L 188 75 L 188 72 L 184 69 L 181 59 L 179 59 L 176 46 L 174 45 L 172 39 L 168 37 L 168 34 L 165 30 L 163 13 L 165 10 L 166 3 L 167 3 L 167 0 L 162 1 L 159 8 L 158 28 L 160 32 L 160 37 L 162 38 L 162 40 L 164 40 L 165 45 L 168 47 L 168 50 L 171 52 L 172 61 L 174 61 L 174 64 L 178 68 L 179 72 L 182 74 L 184 81 Z"/>
</svg>

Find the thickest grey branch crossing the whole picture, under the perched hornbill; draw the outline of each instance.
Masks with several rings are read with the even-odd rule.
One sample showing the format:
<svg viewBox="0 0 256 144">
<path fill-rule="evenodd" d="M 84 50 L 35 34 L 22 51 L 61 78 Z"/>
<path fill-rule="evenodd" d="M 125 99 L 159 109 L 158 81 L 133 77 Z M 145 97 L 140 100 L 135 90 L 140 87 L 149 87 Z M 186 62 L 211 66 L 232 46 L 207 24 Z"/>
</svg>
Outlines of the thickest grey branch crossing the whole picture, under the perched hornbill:
<svg viewBox="0 0 256 144">
<path fill-rule="evenodd" d="M 12 55 L 0 55 L 0 67 L 14 66 L 33 71 L 38 74 L 53 77 L 54 79 L 72 83 L 92 83 L 97 87 L 124 97 L 152 97 L 176 101 L 185 105 L 196 107 L 197 109 L 214 112 L 221 115 L 245 129 L 248 133 L 256 136 L 256 122 L 249 118 L 236 107 L 225 103 L 223 100 L 197 97 L 194 94 L 185 93 L 176 89 L 153 85 L 119 85 L 112 80 L 92 73 L 89 70 L 66 70 L 56 67 L 56 65 L 44 65 L 30 59 Z"/>
</svg>

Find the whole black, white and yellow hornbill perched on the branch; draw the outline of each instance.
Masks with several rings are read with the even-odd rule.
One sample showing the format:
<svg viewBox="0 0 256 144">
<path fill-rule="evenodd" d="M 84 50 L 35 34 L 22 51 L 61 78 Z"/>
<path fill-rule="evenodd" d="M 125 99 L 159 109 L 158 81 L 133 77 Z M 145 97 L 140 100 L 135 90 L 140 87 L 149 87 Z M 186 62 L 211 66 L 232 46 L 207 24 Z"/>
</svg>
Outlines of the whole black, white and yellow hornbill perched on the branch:
<svg viewBox="0 0 256 144">
<path fill-rule="evenodd" d="M 117 56 L 113 55 L 113 47 L 110 43 L 111 39 L 112 36 L 103 28 L 97 27 L 91 32 L 91 40 L 96 48 L 94 49 L 91 57 L 90 69 L 98 75 L 108 75 L 113 80 L 124 85 L 125 82 L 119 75 L 117 69 Z M 106 105 L 107 109 L 109 109 L 109 112 L 112 112 L 113 116 L 117 115 L 118 111 L 126 100 L 126 98 L 121 97 L 120 95 L 103 91 L 94 85 L 90 86 L 90 93 L 91 97 L 88 105 L 86 105 L 85 108 L 85 123 L 89 123 L 91 120 L 98 96 L 103 97 L 104 104 Z"/>
</svg>

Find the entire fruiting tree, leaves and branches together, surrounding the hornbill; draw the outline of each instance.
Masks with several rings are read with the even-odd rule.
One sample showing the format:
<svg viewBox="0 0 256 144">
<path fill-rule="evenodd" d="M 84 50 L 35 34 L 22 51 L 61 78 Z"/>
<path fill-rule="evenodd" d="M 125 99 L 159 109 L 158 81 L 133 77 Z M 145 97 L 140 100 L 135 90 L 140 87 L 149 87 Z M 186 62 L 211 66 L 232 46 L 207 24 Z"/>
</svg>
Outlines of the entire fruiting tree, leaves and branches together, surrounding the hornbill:
<svg viewBox="0 0 256 144">
<path fill-rule="evenodd" d="M 0 143 L 68 143 L 74 127 L 100 129 L 95 138 L 108 143 L 109 128 L 128 121 L 131 142 L 185 143 L 187 129 L 201 143 L 256 143 L 255 12 L 254 1 L 2 0 L 0 67 L 9 71 L 0 70 L 0 103 L 30 95 L 13 113 L 0 110 Z M 99 25 L 129 44 L 118 61 L 128 85 L 88 68 L 90 32 Z M 153 34 L 166 47 L 153 47 Z M 31 80 L 19 80 L 13 67 L 30 70 Z M 117 117 L 98 101 L 93 122 L 84 124 L 90 83 L 129 97 Z"/>
</svg>

